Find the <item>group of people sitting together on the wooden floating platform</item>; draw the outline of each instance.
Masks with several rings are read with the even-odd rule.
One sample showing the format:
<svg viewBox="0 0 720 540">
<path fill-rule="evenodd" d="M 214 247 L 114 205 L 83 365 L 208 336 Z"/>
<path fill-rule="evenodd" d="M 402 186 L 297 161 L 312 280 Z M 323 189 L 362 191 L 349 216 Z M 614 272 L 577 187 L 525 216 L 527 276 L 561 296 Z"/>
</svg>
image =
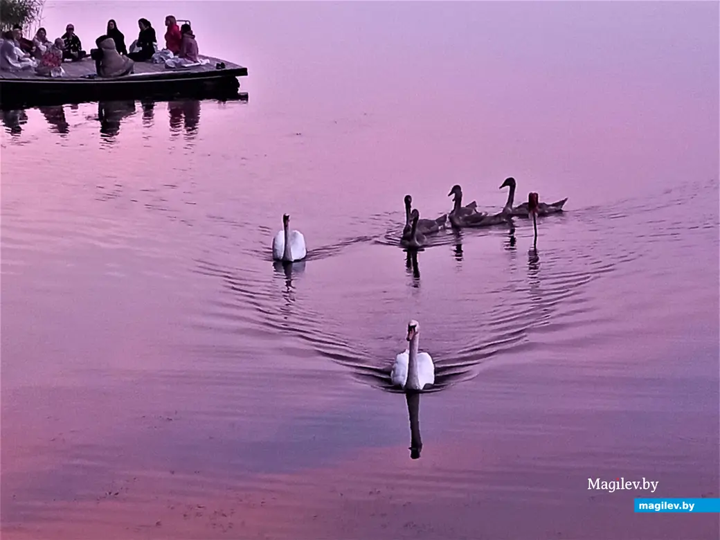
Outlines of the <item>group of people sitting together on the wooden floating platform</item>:
<svg viewBox="0 0 720 540">
<path fill-rule="evenodd" d="M 165 18 L 166 50 L 176 63 L 174 66 L 197 63 L 197 41 L 189 24 L 178 27 L 175 17 Z M 101 77 L 119 77 L 132 73 L 135 62 L 147 62 L 158 53 L 155 29 L 148 19 L 138 20 L 140 34 L 130 45 L 125 46 L 125 35 L 117 28 L 114 19 L 107 22 L 107 32 L 95 40 L 96 50 L 91 50 L 96 70 Z M 22 27 L 16 25 L 12 31 L 4 32 L 0 43 L 0 69 L 22 71 L 35 69 L 38 74 L 61 76 L 63 60 L 83 60 L 87 53 L 83 50 L 80 38 L 75 34 L 73 24 L 68 24 L 66 32 L 53 42 L 48 40 L 45 28 L 37 30 L 32 40 L 22 36 Z M 171 53 L 171 54 L 170 54 Z"/>
</svg>

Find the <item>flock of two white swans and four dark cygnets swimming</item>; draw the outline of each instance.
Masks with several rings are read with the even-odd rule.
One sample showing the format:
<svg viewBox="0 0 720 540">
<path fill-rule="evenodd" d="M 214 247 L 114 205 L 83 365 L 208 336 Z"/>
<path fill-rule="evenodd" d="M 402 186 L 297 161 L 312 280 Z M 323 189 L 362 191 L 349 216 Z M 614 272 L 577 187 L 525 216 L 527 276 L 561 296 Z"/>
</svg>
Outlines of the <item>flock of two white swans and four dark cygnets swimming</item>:
<svg viewBox="0 0 720 540">
<path fill-rule="evenodd" d="M 454 185 L 448 194 L 453 196 L 453 209 L 449 214 L 444 214 L 436 220 L 420 220 L 420 212 L 413 210 L 413 197 L 405 195 L 405 228 L 402 230 L 400 243 L 409 249 L 422 247 L 426 242 L 426 235 L 438 233 L 446 228 L 450 222 L 451 228 L 458 230 L 462 228 L 490 227 L 492 225 L 512 225 L 513 217 L 532 217 L 535 228 L 535 240 L 537 240 L 536 217 L 540 215 L 562 212 L 562 207 L 567 202 L 567 197 L 553 203 L 539 202 L 538 194 L 528 194 L 528 202 L 513 207 L 517 183 L 514 178 L 505 179 L 500 189 L 510 188 L 508 202 L 503 210 L 494 215 L 487 212 L 478 212 L 475 201 L 462 205 L 462 189 Z M 282 230 L 272 240 L 272 253 L 276 261 L 292 264 L 302 261 L 307 256 L 305 248 L 305 237 L 299 230 L 290 230 L 290 216 L 285 214 L 282 217 Z M 411 320 L 408 323 L 408 349 L 397 355 L 395 363 L 390 372 L 392 384 L 401 387 L 406 392 L 418 392 L 428 385 L 435 383 L 435 366 L 433 359 L 428 353 L 418 352 L 418 341 L 420 334 L 420 323 Z"/>
</svg>

